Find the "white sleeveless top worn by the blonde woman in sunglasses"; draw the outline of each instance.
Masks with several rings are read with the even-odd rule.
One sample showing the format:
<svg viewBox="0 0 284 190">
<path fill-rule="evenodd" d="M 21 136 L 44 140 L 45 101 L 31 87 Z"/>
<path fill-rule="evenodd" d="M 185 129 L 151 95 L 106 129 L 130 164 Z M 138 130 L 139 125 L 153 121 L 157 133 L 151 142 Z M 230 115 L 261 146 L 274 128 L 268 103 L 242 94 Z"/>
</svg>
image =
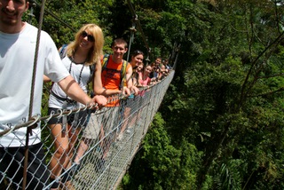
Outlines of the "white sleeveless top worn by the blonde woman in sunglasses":
<svg viewBox="0 0 284 190">
<path fill-rule="evenodd" d="M 86 66 L 83 64 L 76 64 L 71 59 L 69 59 L 67 56 L 65 56 L 62 59 L 62 63 L 67 68 L 67 70 L 70 71 L 70 75 L 73 76 L 73 78 L 75 79 L 75 82 L 77 82 L 79 86 L 83 89 L 83 91 L 87 93 L 88 91 L 87 85 L 91 77 L 90 66 Z M 62 91 L 58 83 L 53 83 L 51 91 L 55 93 L 57 96 L 59 96 L 60 98 L 67 99 L 66 93 Z M 63 100 L 57 99 L 51 93 L 50 99 L 48 102 L 49 107 L 61 109 L 63 108 L 62 107 L 63 103 L 64 103 Z M 77 106 L 81 107 L 83 106 L 83 104 L 78 103 Z M 75 107 L 74 107 L 74 104 L 68 104 L 66 108 L 73 109 Z"/>
</svg>

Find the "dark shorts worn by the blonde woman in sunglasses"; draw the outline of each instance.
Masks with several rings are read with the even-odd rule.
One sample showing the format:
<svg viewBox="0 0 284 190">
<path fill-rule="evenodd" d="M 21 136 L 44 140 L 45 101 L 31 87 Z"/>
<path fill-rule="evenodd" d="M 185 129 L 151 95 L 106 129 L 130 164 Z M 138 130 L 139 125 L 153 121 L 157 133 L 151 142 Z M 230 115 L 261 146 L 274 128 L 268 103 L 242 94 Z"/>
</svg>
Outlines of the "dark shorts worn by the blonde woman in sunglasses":
<svg viewBox="0 0 284 190">
<path fill-rule="evenodd" d="M 58 113 L 58 108 L 48 107 L 48 115 L 51 115 L 51 111 L 54 113 Z M 80 111 L 79 113 L 72 113 L 71 115 L 67 115 L 67 123 L 74 128 L 77 127 L 85 127 L 88 123 L 88 115 L 89 110 Z M 62 123 L 62 117 L 51 117 L 48 121 L 49 124 L 57 124 Z"/>
</svg>

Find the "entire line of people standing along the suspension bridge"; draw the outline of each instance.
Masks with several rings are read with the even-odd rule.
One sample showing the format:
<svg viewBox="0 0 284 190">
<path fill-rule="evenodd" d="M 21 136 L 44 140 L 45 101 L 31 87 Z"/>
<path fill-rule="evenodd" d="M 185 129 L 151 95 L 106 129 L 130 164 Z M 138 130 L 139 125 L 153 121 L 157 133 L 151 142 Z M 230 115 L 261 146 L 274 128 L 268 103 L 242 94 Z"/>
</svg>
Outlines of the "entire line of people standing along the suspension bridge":
<svg viewBox="0 0 284 190">
<path fill-rule="evenodd" d="M 128 63 L 123 59 L 128 44 L 122 38 L 114 40 L 111 55 L 104 55 L 104 36 L 96 24 L 84 25 L 75 34 L 75 40 L 59 50 L 51 36 L 41 31 L 36 51 L 38 29 L 21 20 L 28 7 L 28 0 L 0 0 L 0 132 L 41 115 L 43 82 L 52 82 L 49 115 L 87 106 L 112 109 L 112 115 L 107 116 L 115 116 L 122 110 L 114 95 L 138 95 L 138 87 L 161 80 L 170 70 L 161 58 L 145 66 L 142 51 L 134 51 Z M 90 86 L 93 97 L 89 95 Z M 129 114 L 128 111 L 124 110 Z M 51 189 L 58 189 L 60 183 L 68 180 L 59 176 L 73 164 L 79 166 L 91 140 L 98 137 L 102 147 L 100 161 L 105 162 L 110 146 L 105 135 L 114 123 L 100 123 L 98 132 L 88 124 L 89 112 L 86 109 L 48 121 L 54 142 L 49 167 L 45 163 L 39 122 L 0 136 L 0 183 L 6 178 L 15 189 L 43 189 L 49 184 Z M 113 139 L 119 139 L 125 128 L 123 125 Z M 77 142 L 81 131 L 83 139 Z M 76 143 L 80 145 L 77 150 Z M 24 162 L 27 156 L 28 162 Z M 26 182 L 23 175 L 27 176 Z"/>
</svg>

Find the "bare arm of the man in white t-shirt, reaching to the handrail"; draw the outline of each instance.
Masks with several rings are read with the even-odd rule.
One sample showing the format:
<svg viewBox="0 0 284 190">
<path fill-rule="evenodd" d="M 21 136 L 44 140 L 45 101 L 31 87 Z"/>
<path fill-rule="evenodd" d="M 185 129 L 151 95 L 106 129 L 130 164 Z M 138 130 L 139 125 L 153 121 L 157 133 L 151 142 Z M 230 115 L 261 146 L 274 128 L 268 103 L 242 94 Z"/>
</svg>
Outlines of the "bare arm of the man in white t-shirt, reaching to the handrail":
<svg viewBox="0 0 284 190">
<path fill-rule="evenodd" d="M 75 82 L 71 75 L 67 75 L 64 79 L 58 82 L 60 88 L 67 94 L 68 97 L 82 103 L 83 105 L 90 105 L 91 103 L 98 103 L 99 106 L 106 106 L 106 98 L 101 98 L 98 102 L 98 97 L 91 99 Z"/>
</svg>

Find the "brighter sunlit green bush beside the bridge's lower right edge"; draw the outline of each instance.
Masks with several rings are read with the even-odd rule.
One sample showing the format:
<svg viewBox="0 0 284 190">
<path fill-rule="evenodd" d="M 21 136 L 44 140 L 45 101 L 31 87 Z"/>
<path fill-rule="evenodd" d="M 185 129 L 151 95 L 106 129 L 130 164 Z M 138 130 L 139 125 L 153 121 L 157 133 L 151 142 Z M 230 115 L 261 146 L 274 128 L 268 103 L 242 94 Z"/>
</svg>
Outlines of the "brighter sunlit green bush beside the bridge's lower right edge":
<svg viewBox="0 0 284 190">
<path fill-rule="evenodd" d="M 199 154 L 186 140 L 182 140 L 178 147 L 172 146 L 164 125 L 162 116 L 155 115 L 143 149 L 130 168 L 130 180 L 123 180 L 123 188 L 130 189 L 134 184 L 141 189 L 194 188 Z M 138 162 L 142 163 L 141 168 Z"/>
</svg>

